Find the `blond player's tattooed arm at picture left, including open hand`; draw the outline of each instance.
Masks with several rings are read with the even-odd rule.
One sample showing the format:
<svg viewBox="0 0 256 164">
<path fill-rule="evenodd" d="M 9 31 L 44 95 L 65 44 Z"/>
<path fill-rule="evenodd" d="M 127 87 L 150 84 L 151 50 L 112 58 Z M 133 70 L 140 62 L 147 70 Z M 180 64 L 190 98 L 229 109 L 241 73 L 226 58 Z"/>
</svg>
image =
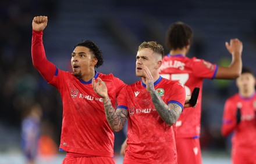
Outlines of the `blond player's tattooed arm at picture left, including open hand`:
<svg viewBox="0 0 256 164">
<path fill-rule="evenodd" d="M 113 108 L 111 100 L 108 96 L 108 89 L 101 78 L 98 78 L 98 83 L 95 83 L 95 79 L 92 81 L 93 89 L 95 93 L 102 97 L 104 103 L 104 109 L 106 114 L 106 119 L 114 132 L 118 132 L 123 129 L 126 119 L 128 117 L 128 112 L 125 108 L 118 108 L 115 110 Z"/>
</svg>

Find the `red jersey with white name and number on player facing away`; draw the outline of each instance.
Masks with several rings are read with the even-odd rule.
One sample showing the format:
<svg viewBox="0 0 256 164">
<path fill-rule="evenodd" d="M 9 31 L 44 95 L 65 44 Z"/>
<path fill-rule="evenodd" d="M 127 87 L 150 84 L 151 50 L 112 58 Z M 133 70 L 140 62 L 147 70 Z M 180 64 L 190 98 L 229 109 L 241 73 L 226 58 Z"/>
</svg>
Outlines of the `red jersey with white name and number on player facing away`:
<svg viewBox="0 0 256 164">
<path fill-rule="evenodd" d="M 214 78 L 217 69 L 216 64 L 195 57 L 190 59 L 182 54 L 175 56 L 168 54 L 163 57 L 160 68 L 160 74 L 163 78 L 182 83 L 187 95 L 191 95 L 195 87 L 200 88 L 197 107 L 184 108 L 176 122 L 176 137 L 197 138 L 200 136 L 202 82 L 204 78 Z"/>
</svg>

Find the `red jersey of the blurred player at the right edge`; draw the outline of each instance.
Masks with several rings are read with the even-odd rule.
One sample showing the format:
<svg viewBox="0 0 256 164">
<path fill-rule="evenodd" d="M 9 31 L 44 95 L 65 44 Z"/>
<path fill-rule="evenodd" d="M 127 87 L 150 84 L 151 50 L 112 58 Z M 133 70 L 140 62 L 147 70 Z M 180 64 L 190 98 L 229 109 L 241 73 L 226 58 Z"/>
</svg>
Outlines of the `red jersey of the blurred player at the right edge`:
<svg viewBox="0 0 256 164">
<path fill-rule="evenodd" d="M 241 110 L 241 122 L 236 123 L 237 108 Z M 232 156 L 247 154 L 247 158 L 256 159 L 256 94 L 250 98 L 234 94 L 226 100 L 223 112 L 222 135 L 234 132 L 232 137 Z M 234 157 L 234 156 L 233 156 Z"/>
</svg>

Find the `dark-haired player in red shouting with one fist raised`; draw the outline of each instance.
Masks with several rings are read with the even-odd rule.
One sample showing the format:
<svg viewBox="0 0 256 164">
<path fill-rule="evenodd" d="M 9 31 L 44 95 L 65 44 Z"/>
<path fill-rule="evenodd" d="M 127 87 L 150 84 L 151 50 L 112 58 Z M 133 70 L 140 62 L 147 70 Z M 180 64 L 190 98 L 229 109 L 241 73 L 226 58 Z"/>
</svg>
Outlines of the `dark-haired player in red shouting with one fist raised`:
<svg viewBox="0 0 256 164">
<path fill-rule="evenodd" d="M 98 77 L 109 88 L 111 103 L 125 86 L 112 74 L 101 74 L 95 68 L 104 62 L 102 52 L 92 41 L 78 43 L 71 54 L 73 74 L 56 68 L 47 60 L 42 34 L 46 16 L 34 17 L 31 55 L 33 65 L 44 79 L 61 93 L 63 120 L 60 150 L 66 151 L 65 163 L 115 163 L 113 130 L 106 120 L 102 99 L 93 90 L 91 79 Z"/>
</svg>

